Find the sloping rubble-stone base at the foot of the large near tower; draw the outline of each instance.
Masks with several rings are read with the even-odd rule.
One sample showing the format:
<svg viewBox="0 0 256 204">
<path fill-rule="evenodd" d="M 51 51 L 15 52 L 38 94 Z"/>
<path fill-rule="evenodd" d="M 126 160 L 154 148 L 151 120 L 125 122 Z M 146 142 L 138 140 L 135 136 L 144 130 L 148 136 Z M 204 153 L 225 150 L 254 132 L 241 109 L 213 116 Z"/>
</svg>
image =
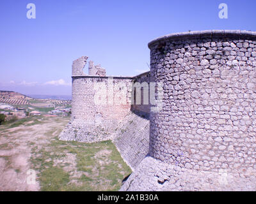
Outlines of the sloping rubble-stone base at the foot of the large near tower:
<svg viewBox="0 0 256 204">
<path fill-rule="evenodd" d="M 120 191 L 255 191 L 252 171 L 198 171 L 145 157 Z"/>
</svg>

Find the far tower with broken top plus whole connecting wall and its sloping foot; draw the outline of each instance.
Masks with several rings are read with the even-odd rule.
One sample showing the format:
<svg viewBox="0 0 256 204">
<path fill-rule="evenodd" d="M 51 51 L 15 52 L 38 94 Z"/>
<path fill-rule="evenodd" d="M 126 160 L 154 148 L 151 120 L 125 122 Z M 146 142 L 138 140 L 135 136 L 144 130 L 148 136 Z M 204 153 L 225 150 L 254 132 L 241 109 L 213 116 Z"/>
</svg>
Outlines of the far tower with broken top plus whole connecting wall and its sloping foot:
<svg viewBox="0 0 256 204">
<path fill-rule="evenodd" d="M 89 61 L 86 75 L 87 60 L 79 57 L 72 64 L 72 117 L 59 138 L 79 142 L 111 139 L 134 170 L 148 154 L 149 121 L 138 115 L 149 115 L 149 105 L 143 100 L 143 86 L 149 92 L 149 72 L 136 77 L 106 77 L 104 68 Z M 132 86 L 135 82 L 136 88 Z M 136 104 L 133 96 L 141 98 L 140 103 Z"/>
</svg>

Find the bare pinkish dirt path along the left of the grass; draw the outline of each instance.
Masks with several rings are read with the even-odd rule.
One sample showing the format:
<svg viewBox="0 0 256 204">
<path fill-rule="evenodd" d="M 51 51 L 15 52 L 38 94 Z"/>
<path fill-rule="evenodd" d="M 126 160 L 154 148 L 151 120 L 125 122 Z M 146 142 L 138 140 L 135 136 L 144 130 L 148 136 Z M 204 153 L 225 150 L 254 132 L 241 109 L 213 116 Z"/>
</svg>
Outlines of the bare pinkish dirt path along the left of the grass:
<svg viewBox="0 0 256 204">
<path fill-rule="evenodd" d="M 40 190 L 37 172 L 31 170 L 31 149 L 42 149 L 51 140 L 45 133 L 62 129 L 68 120 L 52 117 L 33 126 L 0 126 L 0 191 Z"/>
</svg>

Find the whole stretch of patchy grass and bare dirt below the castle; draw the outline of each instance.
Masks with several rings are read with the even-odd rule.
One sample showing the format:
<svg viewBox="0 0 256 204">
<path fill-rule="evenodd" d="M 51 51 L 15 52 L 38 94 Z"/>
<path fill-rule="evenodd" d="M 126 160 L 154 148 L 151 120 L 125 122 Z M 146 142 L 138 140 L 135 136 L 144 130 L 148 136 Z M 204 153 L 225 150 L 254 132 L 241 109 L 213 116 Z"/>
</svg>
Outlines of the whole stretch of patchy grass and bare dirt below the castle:
<svg viewBox="0 0 256 204">
<path fill-rule="evenodd" d="M 0 170 L 3 171 L 0 172 L 3 177 L 0 175 L 0 190 L 29 189 L 28 186 L 19 187 L 26 179 L 28 169 L 36 171 L 36 190 L 120 189 L 122 180 L 131 173 L 131 169 L 124 163 L 115 145 L 111 141 L 79 143 L 58 140 L 68 120 L 67 117 L 40 116 L 0 126 L 0 159 L 5 161 Z M 20 157 L 28 163 L 26 166 L 20 164 Z M 10 173 L 13 173 L 13 179 L 8 184 L 2 184 L 7 178 L 4 176 L 10 177 Z"/>
</svg>

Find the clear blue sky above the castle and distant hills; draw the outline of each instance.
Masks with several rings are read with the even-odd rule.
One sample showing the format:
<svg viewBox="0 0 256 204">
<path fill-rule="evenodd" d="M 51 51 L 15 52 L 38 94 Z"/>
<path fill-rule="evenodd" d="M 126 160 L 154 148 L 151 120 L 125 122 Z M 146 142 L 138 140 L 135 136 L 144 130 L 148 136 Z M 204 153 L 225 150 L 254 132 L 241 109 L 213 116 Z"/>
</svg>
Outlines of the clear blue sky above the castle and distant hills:
<svg viewBox="0 0 256 204">
<path fill-rule="evenodd" d="M 34 3 L 36 19 L 26 5 Z M 220 19 L 218 5 L 228 5 Z M 71 65 L 88 55 L 108 75 L 134 76 L 150 64 L 147 43 L 205 29 L 256 31 L 255 0 L 1 0 L 0 90 L 71 94 Z"/>
</svg>

